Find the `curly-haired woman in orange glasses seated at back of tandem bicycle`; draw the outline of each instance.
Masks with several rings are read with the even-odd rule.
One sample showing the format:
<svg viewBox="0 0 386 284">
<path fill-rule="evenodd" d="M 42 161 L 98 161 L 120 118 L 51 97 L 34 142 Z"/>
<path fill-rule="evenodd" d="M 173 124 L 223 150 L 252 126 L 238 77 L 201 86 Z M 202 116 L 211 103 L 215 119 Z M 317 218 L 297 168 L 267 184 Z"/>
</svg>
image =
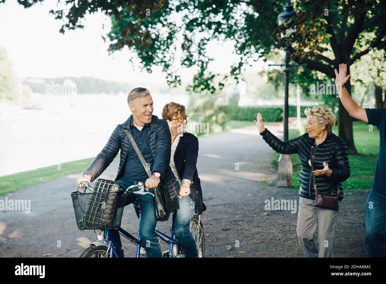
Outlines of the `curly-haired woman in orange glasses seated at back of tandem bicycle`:
<svg viewBox="0 0 386 284">
<path fill-rule="evenodd" d="M 200 244 L 195 242 L 189 226 L 195 211 L 196 216 L 200 216 L 206 208 L 202 202 L 200 178 L 196 168 L 198 139 L 186 132 L 188 118 L 183 105 L 171 102 L 163 108 L 162 119 L 168 122 L 172 141 L 169 165 L 181 184 L 174 235 L 185 250 L 185 257 L 198 257 L 203 251 L 200 251 Z"/>
</svg>

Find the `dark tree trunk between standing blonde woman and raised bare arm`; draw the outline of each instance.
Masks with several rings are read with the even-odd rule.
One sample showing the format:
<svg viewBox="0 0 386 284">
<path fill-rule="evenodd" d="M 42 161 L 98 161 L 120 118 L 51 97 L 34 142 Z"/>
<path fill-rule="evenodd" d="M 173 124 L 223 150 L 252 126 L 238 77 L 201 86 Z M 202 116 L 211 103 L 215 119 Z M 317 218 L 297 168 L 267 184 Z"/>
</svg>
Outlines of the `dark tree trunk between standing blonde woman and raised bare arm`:
<svg viewBox="0 0 386 284">
<path fill-rule="evenodd" d="M 347 74 L 350 74 L 350 69 L 347 66 Z M 344 85 L 351 96 L 351 84 L 350 79 Z M 349 155 L 358 155 L 357 149 L 354 145 L 354 137 L 352 135 L 352 118 L 350 117 L 347 110 L 342 105 L 342 101 L 339 100 L 339 137 L 344 140 L 347 145 L 347 151 Z"/>
</svg>

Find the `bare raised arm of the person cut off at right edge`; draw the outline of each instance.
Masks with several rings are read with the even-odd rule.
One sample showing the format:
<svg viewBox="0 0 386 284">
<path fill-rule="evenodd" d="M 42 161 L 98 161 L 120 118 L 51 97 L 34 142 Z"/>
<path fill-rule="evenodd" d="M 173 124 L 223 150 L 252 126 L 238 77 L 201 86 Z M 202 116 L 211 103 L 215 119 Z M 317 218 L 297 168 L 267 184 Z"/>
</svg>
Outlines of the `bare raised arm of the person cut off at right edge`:
<svg viewBox="0 0 386 284">
<path fill-rule="evenodd" d="M 347 75 L 347 65 L 339 64 L 339 73 L 337 69 L 335 71 L 335 86 L 336 90 L 339 93 L 340 101 L 342 101 L 342 105 L 347 110 L 351 117 L 362 120 L 363 122 L 368 122 L 366 110 L 359 106 L 349 95 L 349 92 L 345 88 L 344 84 L 350 78 L 350 75 Z"/>
</svg>

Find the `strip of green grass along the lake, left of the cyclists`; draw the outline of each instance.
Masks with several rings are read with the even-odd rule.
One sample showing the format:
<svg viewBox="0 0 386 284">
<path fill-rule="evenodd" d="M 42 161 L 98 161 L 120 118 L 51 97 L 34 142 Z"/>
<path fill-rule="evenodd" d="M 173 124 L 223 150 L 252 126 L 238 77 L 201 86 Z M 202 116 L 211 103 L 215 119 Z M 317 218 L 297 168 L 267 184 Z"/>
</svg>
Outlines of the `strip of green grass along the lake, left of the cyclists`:
<svg viewBox="0 0 386 284">
<path fill-rule="evenodd" d="M 52 181 L 69 174 L 76 174 L 77 172 L 84 172 L 95 157 L 66 162 L 59 166 L 41 167 L 36 170 L 18 172 L 17 174 L 11 174 L 9 176 L 0 177 L 0 195 L 14 191 L 19 188 L 26 188 L 39 183 L 45 183 Z M 115 157 L 114 161 L 119 159 L 119 155 Z"/>
</svg>

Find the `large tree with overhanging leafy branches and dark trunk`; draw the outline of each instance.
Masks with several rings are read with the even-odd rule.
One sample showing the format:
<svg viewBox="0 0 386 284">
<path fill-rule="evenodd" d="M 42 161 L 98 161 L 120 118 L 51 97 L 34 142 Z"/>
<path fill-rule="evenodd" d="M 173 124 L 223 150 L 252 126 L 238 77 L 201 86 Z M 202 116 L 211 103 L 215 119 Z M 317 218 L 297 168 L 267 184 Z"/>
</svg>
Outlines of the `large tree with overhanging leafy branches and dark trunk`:
<svg viewBox="0 0 386 284">
<path fill-rule="evenodd" d="M 41 0 L 18 0 L 30 7 Z M 1 0 L 0 3 L 5 2 Z M 239 59 L 230 74 L 239 79 L 245 66 L 281 47 L 277 16 L 285 0 L 143 0 L 74 1 L 58 10 L 56 19 L 64 20 L 60 32 L 84 25 L 87 13 L 102 11 L 112 19 L 107 37 L 110 52 L 125 46 L 134 51 L 143 68 L 162 66 L 170 84 L 181 83 L 181 67 L 195 70 L 190 90 L 214 93 L 223 82 L 208 71 L 212 60 L 207 55 L 211 41 L 231 40 Z M 64 5 L 64 3 L 66 5 Z M 386 47 L 385 0 L 293 0 L 296 17 L 289 23 L 295 32 L 285 42 L 296 63 L 334 78 L 340 63 L 350 66 L 371 50 Z M 59 7 L 59 6 L 58 6 Z M 371 34 L 371 37 L 366 35 Z M 175 62 L 176 49 L 182 49 Z M 346 88 L 350 92 L 350 82 Z M 339 101 L 339 136 L 350 154 L 357 154 L 352 137 L 352 121 Z"/>
</svg>

